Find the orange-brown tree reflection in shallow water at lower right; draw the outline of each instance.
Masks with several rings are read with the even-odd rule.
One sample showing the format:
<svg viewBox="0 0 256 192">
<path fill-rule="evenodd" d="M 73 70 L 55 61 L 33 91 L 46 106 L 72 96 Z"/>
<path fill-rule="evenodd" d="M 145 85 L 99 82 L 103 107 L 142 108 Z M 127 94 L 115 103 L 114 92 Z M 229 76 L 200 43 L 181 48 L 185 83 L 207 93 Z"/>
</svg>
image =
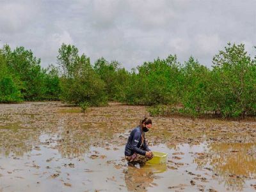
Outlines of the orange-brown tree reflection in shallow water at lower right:
<svg viewBox="0 0 256 192">
<path fill-rule="evenodd" d="M 256 177 L 255 144 L 209 144 L 209 153 L 197 154 L 195 163 L 210 166 L 220 183 L 243 190 L 246 180 Z"/>
</svg>

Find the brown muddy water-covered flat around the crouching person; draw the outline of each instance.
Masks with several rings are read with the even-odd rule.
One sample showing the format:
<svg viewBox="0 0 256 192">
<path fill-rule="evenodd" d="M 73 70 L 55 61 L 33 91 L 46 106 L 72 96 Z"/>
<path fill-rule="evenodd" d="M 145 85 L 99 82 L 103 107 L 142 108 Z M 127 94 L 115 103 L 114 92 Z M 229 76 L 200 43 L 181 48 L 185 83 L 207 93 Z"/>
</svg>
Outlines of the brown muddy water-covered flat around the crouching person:
<svg viewBox="0 0 256 192">
<path fill-rule="evenodd" d="M 127 166 L 124 145 L 144 107 L 59 102 L 0 105 L 0 191 L 253 191 L 255 121 L 152 117 L 166 165 Z"/>
</svg>

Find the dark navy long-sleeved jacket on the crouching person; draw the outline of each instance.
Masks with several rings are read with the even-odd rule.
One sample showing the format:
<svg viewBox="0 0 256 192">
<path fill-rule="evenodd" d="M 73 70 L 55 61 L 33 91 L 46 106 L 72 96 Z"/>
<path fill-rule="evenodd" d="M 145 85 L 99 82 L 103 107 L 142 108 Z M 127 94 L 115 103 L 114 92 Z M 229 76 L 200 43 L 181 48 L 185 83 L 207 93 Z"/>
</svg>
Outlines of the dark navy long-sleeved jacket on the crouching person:
<svg viewBox="0 0 256 192">
<path fill-rule="evenodd" d="M 141 135 L 143 135 L 144 137 L 143 144 L 141 144 Z M 145 133 L 141 131 L 140 126 L 138 126 L 131 131 L 129 138 L 127 140 L 127 144 L 125 145 L 124 154 L 125 156 L 132 156 L 132 154 L 136 152 L 138 154 L 145 156 L 146 151 L 150 151 L 150 149 L 148 149 L 148 145 L 146 144 Z"/>
</svg>

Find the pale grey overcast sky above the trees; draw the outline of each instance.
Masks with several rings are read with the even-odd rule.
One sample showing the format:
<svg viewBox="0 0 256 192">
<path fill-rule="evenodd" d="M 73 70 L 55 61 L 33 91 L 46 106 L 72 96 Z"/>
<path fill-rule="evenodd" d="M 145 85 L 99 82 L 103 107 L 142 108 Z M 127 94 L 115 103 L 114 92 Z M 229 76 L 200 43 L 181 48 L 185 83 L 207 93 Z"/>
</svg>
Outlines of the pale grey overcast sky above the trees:
<svg viewBox="0 0 256 192">
<path fill-rule="evenodd" d="M 255 55 L 256 0 L 0 0 L 0 46 L 24 46 L 56 63 L 61 43 L 130 70 L 144 61 L 193 55 L 211 66 L 227 42 Z"/>
</svg>

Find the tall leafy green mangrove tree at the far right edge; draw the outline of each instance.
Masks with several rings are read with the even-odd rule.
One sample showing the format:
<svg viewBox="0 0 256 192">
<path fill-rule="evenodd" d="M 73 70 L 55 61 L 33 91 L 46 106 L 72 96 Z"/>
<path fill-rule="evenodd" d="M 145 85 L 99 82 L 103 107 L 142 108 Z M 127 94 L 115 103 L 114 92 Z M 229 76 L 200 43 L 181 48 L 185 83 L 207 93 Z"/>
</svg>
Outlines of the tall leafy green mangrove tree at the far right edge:
<svg viewBox="0 0 256 192">
<path fill-rule="evenodd" d="M 228 43 L 214 57 L 213 64 L 212 108 L 223 117 L 255 115 L 256 63 L 244 45 Z"/>
</svg>

